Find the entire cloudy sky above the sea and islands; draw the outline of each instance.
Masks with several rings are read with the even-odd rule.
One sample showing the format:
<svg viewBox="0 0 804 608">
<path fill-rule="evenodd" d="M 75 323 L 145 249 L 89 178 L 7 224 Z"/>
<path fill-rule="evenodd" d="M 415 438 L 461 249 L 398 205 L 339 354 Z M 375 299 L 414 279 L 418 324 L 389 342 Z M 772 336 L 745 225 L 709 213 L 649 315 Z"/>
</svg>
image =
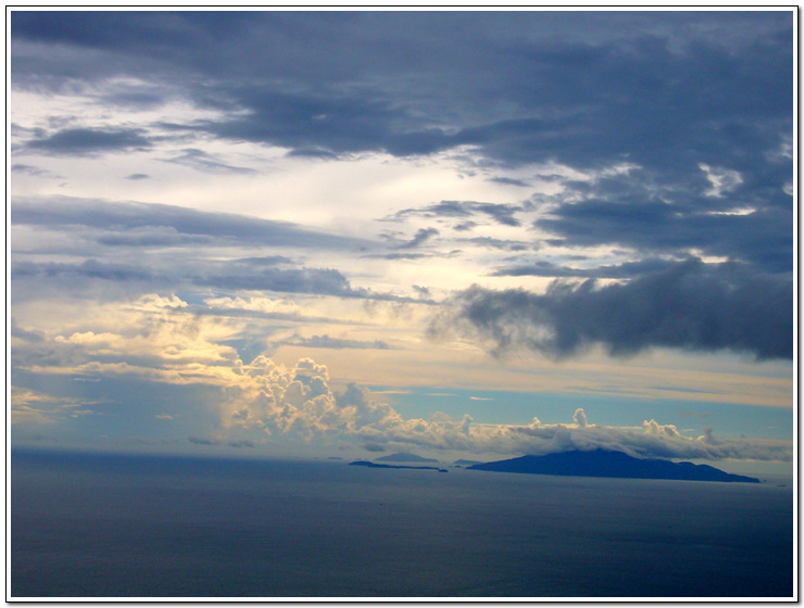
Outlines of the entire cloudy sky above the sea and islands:
<svg viewBox="0 0 804 608">
<path fill-rule="evenodd" d="M 10 14 L 13 444 L 791 466 L 791 11 Z"/>
</svg>

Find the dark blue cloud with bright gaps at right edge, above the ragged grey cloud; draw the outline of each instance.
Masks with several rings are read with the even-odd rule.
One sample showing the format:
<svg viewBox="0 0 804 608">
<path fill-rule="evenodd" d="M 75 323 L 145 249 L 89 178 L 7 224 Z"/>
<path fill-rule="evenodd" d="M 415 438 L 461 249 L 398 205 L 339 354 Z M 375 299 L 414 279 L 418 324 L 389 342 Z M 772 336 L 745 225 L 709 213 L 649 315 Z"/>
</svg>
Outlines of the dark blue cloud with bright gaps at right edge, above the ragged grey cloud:
<svg viewBox="0 0 804 608">
<path fill-rule="evenodd" d="M 789 161 L 783 165 L 789 170 Z M 577 185 L 536 227 L 565 246 L 616 245 L 649 255 L 698 250 L 767 271 L 792 270 L 792 197 L 781 176 L 776 188 L 715 198 L 703 194 L 703 182 L 656 188 L 639 174 Z"/>
</svg>

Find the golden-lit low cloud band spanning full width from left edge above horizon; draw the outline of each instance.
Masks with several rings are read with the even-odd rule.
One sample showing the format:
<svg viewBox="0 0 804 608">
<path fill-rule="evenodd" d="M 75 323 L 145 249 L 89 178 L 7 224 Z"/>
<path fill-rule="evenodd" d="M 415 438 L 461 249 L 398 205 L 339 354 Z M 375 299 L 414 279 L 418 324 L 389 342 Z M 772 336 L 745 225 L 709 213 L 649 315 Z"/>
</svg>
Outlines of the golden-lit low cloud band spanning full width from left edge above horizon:
<svg viewBox="0 0 804 608">
<path fill-rule="evenodd" d="M 334 390 L 327 367 L 311 358 L 286 366 L 263 354 L 243 363 L 224 343 L 225 326 L 188 308 L 176 296 L 153 294 L 125 306 L 106 305 L 104 319 L 110 327 L 95 331 L 37 333 L 32 339 L 33 332 L 21 333 L 17 328 L 12 369 L 22 385 L 14 390 L 12 422 L 28 428 L 49 425 L 51 430 L 70 423 L 103 428 L 110 418 L 120 416 L 116 402 L 125 387 L 139 395 L 140 405 L 127 413 L 131 427 L 150 420 L 210 448 L 281 440 L 331 447 L 458 451 L 488 457 L 604 447 L 642 457 L 792 458 L 789 441 L 719 439 L 711 428 L 690 436 L 655 420 L 635 427 L 602 426 L 580 408 L 567 423 L 543 423 L 536 418 L 528 425 L 476 423 L 468 415 L 453 419 L 440 411 L 429 418 L 405 418 L 381 395 L 357 383 Z M 56 385 L 54 381 L 79 392 L 50 396 L 43 388 Z M 41 387 L 36 388 L 37 383 Z M 96 401 L 89 402 L 88 394 Z M 186 396 L 166 397 L 172 394 Z M 142 395 L 153 395 L 152 406 L 146 407 Z M 180 407 L 179 402 L 188 397 L 192 405 Z M 201 420 L 206 421 L 201 425 Z"/>
</svg>

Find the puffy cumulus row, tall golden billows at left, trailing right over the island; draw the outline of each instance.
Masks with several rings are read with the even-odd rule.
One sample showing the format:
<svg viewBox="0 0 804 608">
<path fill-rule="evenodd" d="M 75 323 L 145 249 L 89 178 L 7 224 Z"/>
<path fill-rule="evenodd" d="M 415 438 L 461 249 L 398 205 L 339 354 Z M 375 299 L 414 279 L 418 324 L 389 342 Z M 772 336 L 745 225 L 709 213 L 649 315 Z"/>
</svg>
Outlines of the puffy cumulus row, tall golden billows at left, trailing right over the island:
<svg viewBox="0 0 804 608">
<path fill-rule="evenodd" d="M 350 384 L 334 393 L 325 366 L 301 359 L 296 368 L 259 357 L 244 368 L 254 392 L 244 394 L 231 414 L 233 425 L 303 438 L 340 436 L 389 448 L 463 451 L 475 454 L 548 454 L 567 449 L 615 449 L 639 457 L 750 458 L 790 461 L 791 444 L 749 439 L 718 440 L 712 428 L 688 436 L 673 425 L 645 420 L 639 427 L 590 423 L 583 409 L 573 422 L 545 425 L 475 425 L 470 416 L 454 420 L 443 413 L 429 419 L 404 419 L 391 406 L 376 402 L 365 389 Z M 259 388 L 256 388 L 259 387 Z"/>
</svg>

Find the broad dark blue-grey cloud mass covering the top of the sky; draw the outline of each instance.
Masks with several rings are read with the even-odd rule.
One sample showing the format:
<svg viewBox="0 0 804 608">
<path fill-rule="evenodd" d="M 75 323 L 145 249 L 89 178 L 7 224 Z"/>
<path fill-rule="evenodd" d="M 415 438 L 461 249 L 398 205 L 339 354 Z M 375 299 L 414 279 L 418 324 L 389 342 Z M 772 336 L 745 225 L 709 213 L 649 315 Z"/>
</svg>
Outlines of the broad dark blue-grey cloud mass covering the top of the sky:
<svg viewBox="0 0 804 608">
<path fill-rule="evenodd" d="M 292 150 L 762 173 L 792 127 L 791 12 L 15 12 L 14 42 L 17 80 L 67 69 L 32 45 L 102 52 Z"/>
</svg>

